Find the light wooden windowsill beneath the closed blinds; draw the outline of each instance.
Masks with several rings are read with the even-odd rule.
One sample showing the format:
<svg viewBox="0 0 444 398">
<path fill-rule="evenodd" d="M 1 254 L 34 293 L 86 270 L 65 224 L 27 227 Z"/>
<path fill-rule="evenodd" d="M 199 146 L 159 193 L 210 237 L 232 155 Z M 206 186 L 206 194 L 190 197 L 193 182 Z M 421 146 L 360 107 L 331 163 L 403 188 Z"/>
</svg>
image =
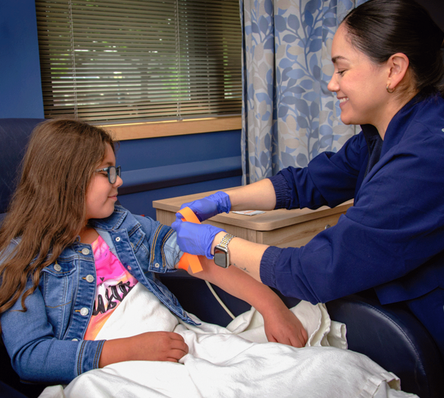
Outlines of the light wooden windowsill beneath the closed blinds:
<svg viewBox="0 0 444 398">
<path fill-rule="evenodd" d="M 138 138 L 167 137 L 171 135 L 209 133 L 212 131 L 239 130 L 242 117 L 188 119 L 182 121 L 120 123 L 102 126 L 114 133 L 117 141 Z"/>
</svg>

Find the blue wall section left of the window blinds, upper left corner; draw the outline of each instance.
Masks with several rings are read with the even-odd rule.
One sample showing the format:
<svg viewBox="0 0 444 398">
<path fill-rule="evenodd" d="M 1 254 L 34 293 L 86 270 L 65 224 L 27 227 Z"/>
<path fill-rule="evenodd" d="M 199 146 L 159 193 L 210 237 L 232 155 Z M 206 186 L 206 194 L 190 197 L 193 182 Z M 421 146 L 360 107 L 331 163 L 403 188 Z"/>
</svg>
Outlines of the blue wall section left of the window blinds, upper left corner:
<svg viewBox="0 0 444 398">
<path fill-rule="evenodd" d="M 44 118 L 34 0 L 0 1 L 0 118 Z"/>
</svg>

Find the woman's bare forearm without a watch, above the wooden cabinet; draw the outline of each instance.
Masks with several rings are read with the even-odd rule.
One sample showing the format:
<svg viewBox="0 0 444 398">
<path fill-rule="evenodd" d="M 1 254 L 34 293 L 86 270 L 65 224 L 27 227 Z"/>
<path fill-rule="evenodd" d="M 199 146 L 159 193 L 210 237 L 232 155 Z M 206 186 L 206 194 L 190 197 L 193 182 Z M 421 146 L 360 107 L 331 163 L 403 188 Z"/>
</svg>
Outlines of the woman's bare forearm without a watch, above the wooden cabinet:
<svg viewBox="0 0 444 398">
<path fill-rule="evenodd" d="M 231 210 L 273 210 L 276 194 L 270 179 L 224 191 L 230 196 Z"/>
</svg>

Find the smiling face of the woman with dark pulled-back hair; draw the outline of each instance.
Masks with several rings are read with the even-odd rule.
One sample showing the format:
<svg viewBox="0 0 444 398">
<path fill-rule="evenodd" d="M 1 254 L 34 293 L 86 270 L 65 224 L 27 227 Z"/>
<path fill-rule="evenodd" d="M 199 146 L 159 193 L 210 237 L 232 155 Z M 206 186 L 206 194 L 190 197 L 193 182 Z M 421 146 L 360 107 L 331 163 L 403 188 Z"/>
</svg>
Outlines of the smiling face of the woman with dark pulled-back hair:
<svg viewBox="0 0 444 398">
<path fill-rule="evenodd" d="M 340 100 L 341 120 L 345 124 L 373 124 L 384 119 L 388 101 L 387 68 L 376 65 L 357 50 L 339 25 L 332 43 L 334 74 L 328 89 Z M 379 130 L 379 129 L 378 129 Z"/>
</svg>

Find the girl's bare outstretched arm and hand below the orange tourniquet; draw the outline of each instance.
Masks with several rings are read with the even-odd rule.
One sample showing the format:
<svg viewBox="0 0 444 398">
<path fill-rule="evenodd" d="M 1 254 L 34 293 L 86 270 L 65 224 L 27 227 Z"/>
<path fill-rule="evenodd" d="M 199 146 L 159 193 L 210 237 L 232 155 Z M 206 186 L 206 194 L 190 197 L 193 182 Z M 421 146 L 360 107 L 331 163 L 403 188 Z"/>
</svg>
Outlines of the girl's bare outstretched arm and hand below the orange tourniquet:
<svg viewBox="0 0 444 398">
<path fill-rule="evenodd" d="M 260 246 L 263 250 L 267 247 Z M 259 260 L 262 253 L 259 254 Z M 203 271 L 192 275 L 208 280 L 257 309 L 264 318 L 265 333 L 269 341 L 293 347 L 305 346 L 307 332 L 273 290 L 236 267 L 221 268 L 204 256 L 199 256 L 199 260 Z"/>
</svg>

